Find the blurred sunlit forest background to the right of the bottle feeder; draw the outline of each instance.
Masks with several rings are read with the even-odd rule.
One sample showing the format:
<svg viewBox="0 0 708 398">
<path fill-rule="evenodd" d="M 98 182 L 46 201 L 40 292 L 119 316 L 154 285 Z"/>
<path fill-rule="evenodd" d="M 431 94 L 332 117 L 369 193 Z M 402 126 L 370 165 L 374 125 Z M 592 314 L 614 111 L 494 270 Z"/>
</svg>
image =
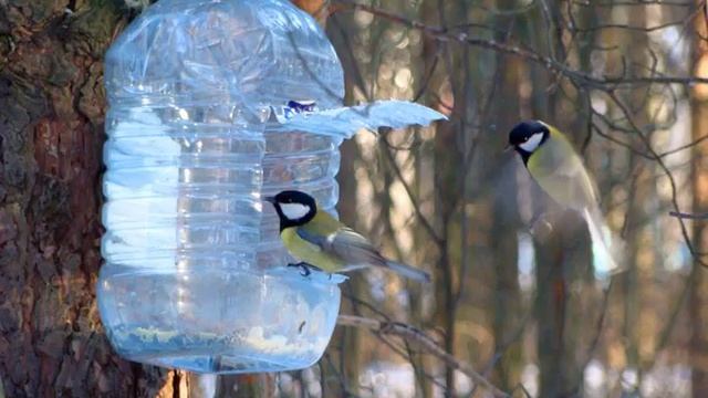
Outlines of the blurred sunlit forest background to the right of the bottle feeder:
<svg viewBox="0 0 708 398">
<path fill-rule="evenodd" d="M 350 102 L 397 97 L 450 116 L 344 145 L 342 218 L 426 264 L 435 290 L 362 273 L 343 312 L 416 325 L 514 396 L 708 396 L 706 223 L 669 216 L 708 210 L 708 85 L 690 77 L 708 76 L 705 2 L 334 8 L 326 30 Z M 556 125 L 583 154 L 627 272 L 596 283 L 582 232 L 528 233 L 546 199 L 501 154 L 523 118 Z M 329 388 L 489 394 L 385 334 L 337 337 L 321 366 Z"/>
</svg>

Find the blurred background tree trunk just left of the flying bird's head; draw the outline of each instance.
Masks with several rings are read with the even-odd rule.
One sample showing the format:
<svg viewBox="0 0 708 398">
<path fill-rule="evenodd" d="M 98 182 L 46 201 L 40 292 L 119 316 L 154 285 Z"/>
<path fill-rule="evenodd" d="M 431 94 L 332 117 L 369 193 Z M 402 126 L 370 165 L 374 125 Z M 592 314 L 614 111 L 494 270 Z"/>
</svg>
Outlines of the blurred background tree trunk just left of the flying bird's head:
<svg viewBox="0 0 708 398">
<path fill-rule="evenodd" d="M 514 7 L 512 0 L 498 0 L 499 9 L 510 9 Z M 503 42 L 507 31 L 512 29 L 514 18 L 511 15 L 496 15 L 494 24 L 501 30 L 494 33 L 494 40 Z M 499 357 L 498 366 L 494 368 L 497 385 L 504 391 L 512 390 L 521 383 L 521 371 L 523 368 L 523 342 L 519 335 L 520 328 L 525 328 L 523 314 L 532 308 L 523 307 L 521 289 L 519 286 L 519 231 L 520 209 L 523 207 L 522 195 L 509 195 L 519 192 L 517 181 L 518 164 L 517 154 L 507 156 L 502 165 L 494 163 L 492 156 L 498 156 L 499 148 L 506 145 L 506 132 L 509 132 L 519 121 L 521 115 L 521 100 L 519 98 L 519 87 L 523 83 L 522 71 L 524 64 L 518 57 L 506 54 L 493 54 L 497 67 L 496 81 L 487 91 L 498 92 L 496 101 L 490 104 L 489 115 L 482 115 L 482 125 L 498 124 L 500 137 L 488 144 L 488 148 L 481 150 L 480 157 L 486 159 L 478 161 L 481 165 L 492 165 L 491 170 L 498 172 L 498 177 L 490 184 L 490 190 L 496 189 L 491 205 L 494 214 L 492 230 L 490 233 L 490 245 L 493 250 L 494 263 L 492 268 L 496 272 L 496 290 L 493 308 L 493 333 L 494 333 L 494 355 Z M 491 156 L 490 156 L 491 155 Z M 489 167 L 489 166 L 488 166 Z M 525 172 L 525 170 L 524 170 Z M 487 171 L 487 175 L 490 172 Z M 498 237 L 506 237 L 499 239 Z M 496 359 L 496 358 L 492 358 Z"/>
</svg>

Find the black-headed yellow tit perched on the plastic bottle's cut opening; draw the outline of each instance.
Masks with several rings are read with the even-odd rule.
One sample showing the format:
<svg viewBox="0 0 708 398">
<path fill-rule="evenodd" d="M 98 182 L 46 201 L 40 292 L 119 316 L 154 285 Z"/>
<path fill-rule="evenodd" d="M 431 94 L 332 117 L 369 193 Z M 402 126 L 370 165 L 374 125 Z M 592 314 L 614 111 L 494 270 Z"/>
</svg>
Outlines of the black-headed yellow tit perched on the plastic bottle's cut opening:
<svg viewBox="0 0 708 398">
<path fill-rule="evenodd" d="M 347 272 L 364 266 L 379 266 L 402 276 L 430 282 L 430 275 L 413 266 L 385 259 L 372 243 L 326 211 L 320 211 L 313 197 L 296 190 L 284 190 L 266 197 L 280 218 L 280 238 L 285 249 L 310 268 L 325 272 Z"/>
</svg>

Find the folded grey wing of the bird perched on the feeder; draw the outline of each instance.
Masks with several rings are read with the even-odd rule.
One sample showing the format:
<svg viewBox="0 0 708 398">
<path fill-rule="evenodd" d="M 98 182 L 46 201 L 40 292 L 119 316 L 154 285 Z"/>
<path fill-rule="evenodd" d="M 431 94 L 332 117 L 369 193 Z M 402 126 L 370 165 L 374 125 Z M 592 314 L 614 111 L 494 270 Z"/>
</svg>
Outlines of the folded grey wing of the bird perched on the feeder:
<svg viewBox="0 0 708 398">
<path fill-rule="evenodd" d="M 298 228 L 298 235 L 348 265 L 386 266 L 386 259 L 378 253 L 378 250 L 366 238 L 350 228 L 341 228 L 324 237 Z"/>
</svg>

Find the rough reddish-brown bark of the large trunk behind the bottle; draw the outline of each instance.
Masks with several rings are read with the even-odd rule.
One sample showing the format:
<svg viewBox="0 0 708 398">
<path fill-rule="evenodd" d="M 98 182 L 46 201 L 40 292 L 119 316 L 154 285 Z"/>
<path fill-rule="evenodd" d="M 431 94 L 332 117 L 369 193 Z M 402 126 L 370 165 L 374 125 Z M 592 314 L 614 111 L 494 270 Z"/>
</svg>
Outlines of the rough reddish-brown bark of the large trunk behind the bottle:
<svg viewBox="0 0 708 398">
<path fill-rule="evenodd" d="M 121 359 L 95 283 L 103 54 L 119 0 L 0 1 L 0 397 L 200 397 L 196 378 Z M 227 377 L 221 397 L 272 395 Z"/>
</svg>

